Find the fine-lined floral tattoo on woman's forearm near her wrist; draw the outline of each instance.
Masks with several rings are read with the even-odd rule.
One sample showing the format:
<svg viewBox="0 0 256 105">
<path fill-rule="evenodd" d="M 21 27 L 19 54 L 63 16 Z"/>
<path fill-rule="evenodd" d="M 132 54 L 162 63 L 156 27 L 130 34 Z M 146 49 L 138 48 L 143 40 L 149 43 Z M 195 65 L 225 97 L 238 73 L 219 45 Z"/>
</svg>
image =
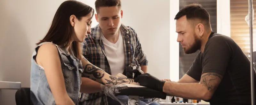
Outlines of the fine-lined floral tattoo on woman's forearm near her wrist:
<svg viewBox="0 0 256 105">
<path fill-rule="evenodd" d="M 130 84 L 130 83 L 134 82 L 132 79 L 125 78 L 125 77 L 109 76 L 109 78 L 111 80 L 105 79 L 107 81 L 106 84 L 108 84 L 108 85 L 118 85 L 118 84 L 122 84 L 122 83 Z"/>
</svg>

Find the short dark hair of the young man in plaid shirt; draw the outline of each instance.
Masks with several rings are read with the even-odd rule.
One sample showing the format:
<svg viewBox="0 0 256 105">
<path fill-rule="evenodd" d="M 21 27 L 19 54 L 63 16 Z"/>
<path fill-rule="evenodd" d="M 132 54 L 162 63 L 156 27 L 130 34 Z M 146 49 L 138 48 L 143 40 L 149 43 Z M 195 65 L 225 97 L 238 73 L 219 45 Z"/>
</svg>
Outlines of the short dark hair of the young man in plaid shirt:
<svg viewBox="0 0 256 105">
<path fill-rule="evenodd" d="M 121 0 L 96 0 L 95 1 L 95 9 L 97 13 L 99 13 L 100 7 L 111 7 L 111 6 L 121 7 Z"/>
</svg>

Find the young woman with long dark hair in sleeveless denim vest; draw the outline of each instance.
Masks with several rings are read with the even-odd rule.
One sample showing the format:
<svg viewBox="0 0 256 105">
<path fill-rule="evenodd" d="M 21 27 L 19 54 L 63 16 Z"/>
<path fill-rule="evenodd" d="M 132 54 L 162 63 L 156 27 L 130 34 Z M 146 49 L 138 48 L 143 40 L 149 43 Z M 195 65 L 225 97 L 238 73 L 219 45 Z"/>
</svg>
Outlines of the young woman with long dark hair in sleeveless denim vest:
<svg viewBox="0 0 256 105">
<path fill-rule="evenodd" d="M 108 86 L 137 84 L 132 79 L 107 74 L 81 54 L 80 42 L 91 34 L 93 14 L 94 10 L 84 3 L 61 3 L 48 33 L 36 44 L 32 55 L 30 88 L 34 105 L 77 105 L 83 90 L 82 74 Z"/>
</svg>

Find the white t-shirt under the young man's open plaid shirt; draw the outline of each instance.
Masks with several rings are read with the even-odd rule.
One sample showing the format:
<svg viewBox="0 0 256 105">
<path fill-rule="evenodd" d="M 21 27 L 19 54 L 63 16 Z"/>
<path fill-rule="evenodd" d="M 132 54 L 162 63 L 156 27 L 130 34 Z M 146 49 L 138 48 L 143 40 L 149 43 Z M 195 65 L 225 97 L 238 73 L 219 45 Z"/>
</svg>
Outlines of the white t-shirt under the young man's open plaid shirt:
<svg viewBox="0 0 256 105">
<path fill-rule="evenodd" d="M 119 30 L 119 38 L 115 44 L 109 42 L 102 33 L 100 37 L 105 47 L 111 74 L 114 76 L 118 73 L 122 74 L 124 72 L 124 43 L 121 31 Z"/>
</svg>

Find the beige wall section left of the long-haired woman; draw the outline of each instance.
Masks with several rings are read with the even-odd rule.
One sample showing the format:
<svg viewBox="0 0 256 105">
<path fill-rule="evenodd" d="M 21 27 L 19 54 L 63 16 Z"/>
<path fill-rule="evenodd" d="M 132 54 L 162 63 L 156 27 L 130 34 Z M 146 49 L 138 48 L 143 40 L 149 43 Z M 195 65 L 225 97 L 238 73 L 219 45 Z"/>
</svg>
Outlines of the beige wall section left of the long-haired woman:
<svg viewBox="0 0 256 105">
<path fill-rule="evenodd" d="M 64 0 L 0 0 L 1 81 L 19 81 L 30 87 L 30 61 Z M 16 90 L 0 90 L 1 105 L 15 105 Z"/>
</svg>

